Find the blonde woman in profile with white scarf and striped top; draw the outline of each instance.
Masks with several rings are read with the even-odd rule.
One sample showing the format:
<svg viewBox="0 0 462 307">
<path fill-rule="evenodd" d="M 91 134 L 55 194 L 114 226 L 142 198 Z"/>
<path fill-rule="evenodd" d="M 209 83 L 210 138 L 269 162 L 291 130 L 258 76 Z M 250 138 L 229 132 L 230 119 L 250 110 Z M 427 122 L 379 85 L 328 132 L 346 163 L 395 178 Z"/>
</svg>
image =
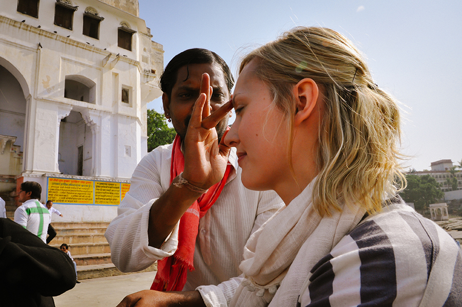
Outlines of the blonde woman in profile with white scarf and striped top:
<svg viewBox="0 0 462 307">
<path fill-rule="evenodd" d="M 232 300 L 217 290 L 214 306 L 462 305 L 462 252 L 398 196 L 398 107 L 348 39 L 296 28 L 245 56 L 219 146 L 201 122 L 209 94 L 204 75 L 186 139 L 207 159 L 192 184 L 210 186 L 236 147 L 244 186 L 286 205 L 248 240 Z"/>
</svg>

